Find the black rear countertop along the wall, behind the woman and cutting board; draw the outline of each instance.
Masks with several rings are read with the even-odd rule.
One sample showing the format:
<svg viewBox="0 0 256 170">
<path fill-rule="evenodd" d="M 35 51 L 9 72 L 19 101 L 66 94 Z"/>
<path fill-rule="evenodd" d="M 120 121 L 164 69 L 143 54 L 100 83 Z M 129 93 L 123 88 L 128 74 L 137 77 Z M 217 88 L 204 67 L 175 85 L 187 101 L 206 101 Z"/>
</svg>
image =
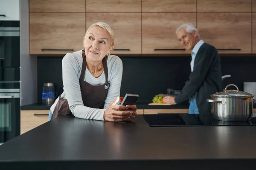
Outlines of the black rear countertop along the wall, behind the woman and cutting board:
<svg viewBox="0 0 256 170">
<path fill-rule="evenodd" d="M 188 102 L 183 102 L 180 105 L 148 105 L 148 103 L 145 102 L 138 102 L 136 103 L 136 106 L 138 109 L 187 109 L 189 108 Z M 31 105 L 24 105 L 21 106 L 21 110 L 49 110 L 51 105 L 44 105 L 40 103 L 35 103 Z"/>
</svg>

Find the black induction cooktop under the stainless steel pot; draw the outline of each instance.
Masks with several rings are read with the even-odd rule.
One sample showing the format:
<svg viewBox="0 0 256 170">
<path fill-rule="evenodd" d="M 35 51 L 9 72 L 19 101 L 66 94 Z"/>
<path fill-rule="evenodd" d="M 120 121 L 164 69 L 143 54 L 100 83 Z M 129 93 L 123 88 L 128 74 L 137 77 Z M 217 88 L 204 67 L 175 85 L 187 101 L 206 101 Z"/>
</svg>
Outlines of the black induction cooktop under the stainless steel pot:
<svg viewBox="0 0 256 170">
<path fill-rule="evenodd" d="M 203 122 L 198 114 L 156 114 L 143 115 L 143 118 L 150 127 L 163 126 L 252 126 L 256 125 L 256 117 L 246 122 L 218 121 L 214 118 Z"/>
</svg>

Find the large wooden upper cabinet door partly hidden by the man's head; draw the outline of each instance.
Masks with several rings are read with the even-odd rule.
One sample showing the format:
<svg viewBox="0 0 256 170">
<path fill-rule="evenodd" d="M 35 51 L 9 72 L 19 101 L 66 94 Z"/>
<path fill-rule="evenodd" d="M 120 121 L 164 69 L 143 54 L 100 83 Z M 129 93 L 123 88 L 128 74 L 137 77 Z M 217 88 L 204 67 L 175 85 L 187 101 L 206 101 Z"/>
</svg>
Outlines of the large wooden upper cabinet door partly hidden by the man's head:
<svg viewBox="0 0 256 170">
<path fill-rule="evenodd" d="M 196 13 L 143 13 L 143 54 L 190 54 L 177 40 L 176 29 L 183 23 L 196 25 Z"/>
</svg>

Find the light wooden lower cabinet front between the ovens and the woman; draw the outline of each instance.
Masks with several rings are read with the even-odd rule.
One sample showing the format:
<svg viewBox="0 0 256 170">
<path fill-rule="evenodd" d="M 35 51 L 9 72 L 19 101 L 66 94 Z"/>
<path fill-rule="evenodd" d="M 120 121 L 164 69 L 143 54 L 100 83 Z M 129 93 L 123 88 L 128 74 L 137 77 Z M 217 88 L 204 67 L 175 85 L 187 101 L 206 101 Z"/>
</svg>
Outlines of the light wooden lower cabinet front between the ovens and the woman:
<svg viewBox="0 0 256 170">
<path fill-rule="evenodd" d="M 20 134 L 49 121 L 49 110 L 20 111 Z"/>
</svg>

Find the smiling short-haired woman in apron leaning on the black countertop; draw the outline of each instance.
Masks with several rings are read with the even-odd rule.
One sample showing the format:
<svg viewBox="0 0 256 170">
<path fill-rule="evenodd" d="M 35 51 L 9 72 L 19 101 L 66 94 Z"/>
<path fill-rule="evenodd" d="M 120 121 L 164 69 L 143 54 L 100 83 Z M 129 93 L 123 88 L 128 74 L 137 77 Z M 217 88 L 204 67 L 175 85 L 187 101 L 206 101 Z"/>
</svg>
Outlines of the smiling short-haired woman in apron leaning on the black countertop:
<svg viewBox="0 0 256 170">
<path fill-rule="evenodd" d="M 73 114 L 81 119 L 132 121 L 136 105 L 119 105 L 122 60 L 110 55 L 115 47 L 113 30 L 106 23 L 94 23 L 83 46 L 62 60 L 64 92 L 52 105 L 49 120 Z"/>
</svg>

